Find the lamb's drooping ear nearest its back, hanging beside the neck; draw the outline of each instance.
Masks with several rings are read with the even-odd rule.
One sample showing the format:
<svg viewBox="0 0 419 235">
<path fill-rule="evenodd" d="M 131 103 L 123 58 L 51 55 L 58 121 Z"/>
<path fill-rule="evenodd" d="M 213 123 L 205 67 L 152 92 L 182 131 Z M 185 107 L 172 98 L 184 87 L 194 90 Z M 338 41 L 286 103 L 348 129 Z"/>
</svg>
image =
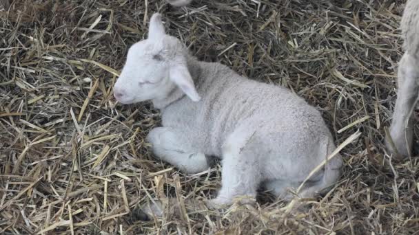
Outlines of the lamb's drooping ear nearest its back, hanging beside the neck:
<svg viewBox="0 0 419 235">
<path fill-rule="evenodd" d="M 195 102 L 201 100 L 198 92 L 196 92 L 194 80 L 192 80 L 191 74 L 185 64 L 176 64 L 170 67 L 170 80 L 176 83 L 191 100 Z"/>
</svg>

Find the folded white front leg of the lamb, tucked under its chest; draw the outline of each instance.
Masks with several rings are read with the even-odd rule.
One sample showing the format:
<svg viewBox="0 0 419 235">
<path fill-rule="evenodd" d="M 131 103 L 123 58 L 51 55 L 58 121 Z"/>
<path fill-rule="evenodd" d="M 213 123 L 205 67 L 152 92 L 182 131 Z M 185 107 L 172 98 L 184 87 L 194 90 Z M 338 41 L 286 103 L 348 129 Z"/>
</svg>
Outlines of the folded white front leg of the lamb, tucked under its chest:
<svg viewBox="0 0 419 235">
<path fill-rule="evenodd" d="M 152 144 L 156 157 L 186 172 L 195 174 L 207 170 L 210 165 L 207 157 L 174 128 L 157 127 L 147 135 L 147 142 Z"/>
</svg>

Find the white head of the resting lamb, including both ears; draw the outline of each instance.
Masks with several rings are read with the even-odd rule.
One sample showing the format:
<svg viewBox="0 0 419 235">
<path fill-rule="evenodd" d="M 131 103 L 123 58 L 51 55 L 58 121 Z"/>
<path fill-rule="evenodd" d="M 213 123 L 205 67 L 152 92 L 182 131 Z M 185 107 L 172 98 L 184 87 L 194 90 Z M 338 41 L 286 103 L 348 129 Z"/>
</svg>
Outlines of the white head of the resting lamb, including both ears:
<svg viewBox="0 0 419 235">
<path fill-rule="evenodd" d="M 187 49 L 177 38 L 165 34 L 161 14 L 155 13 L 150 19 L 148 38 L 128 50 L 114 96 L 123 104 L 133 104 L 164 100 L 177 88 L 191 100 L 200 100 L 187 69 Z"/>
</svg>

